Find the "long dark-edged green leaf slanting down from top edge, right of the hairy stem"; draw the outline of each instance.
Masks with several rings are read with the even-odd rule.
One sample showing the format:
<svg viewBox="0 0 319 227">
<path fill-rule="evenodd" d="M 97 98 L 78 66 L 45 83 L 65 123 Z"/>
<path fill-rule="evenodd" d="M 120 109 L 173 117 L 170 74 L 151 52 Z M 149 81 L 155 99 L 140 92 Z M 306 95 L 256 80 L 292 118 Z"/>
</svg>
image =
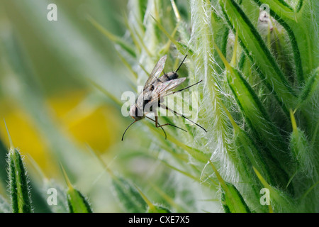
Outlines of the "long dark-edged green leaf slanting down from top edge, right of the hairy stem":
<svg viewBox="0 0 319 227">
<path fill-rule="evenodd" d="M 272 53 L 250 19 L 234 0 L 220 0 L 219 2 L 229 25 L 233 28 L 234 33 L 238 33 L 240 44 L 247 57 L 255 67 L 258 67 L 257 70 L 262 81 L 266 83 L 270 91 L 273 91 L 276 100 L 279 101 L 279 106 L 289 116 L 288 109 L 295 105 L 293 100 L 296 94 L 284 77 L 284 73 L 276 63 Z"/>
</svg>

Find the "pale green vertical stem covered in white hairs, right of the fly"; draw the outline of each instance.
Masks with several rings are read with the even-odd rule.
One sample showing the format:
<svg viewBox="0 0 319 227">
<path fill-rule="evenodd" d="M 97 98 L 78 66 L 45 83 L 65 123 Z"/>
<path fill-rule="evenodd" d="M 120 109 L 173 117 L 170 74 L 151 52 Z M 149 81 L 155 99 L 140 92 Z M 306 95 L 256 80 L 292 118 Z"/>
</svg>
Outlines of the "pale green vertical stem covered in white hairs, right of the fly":
<svg viewBox="0 0 319 227">
<path fill-rule="evenodd" d="M 227 121 L 225 121 L 225 111 L 220 106 L 225 100 L 225 94 L 228 92 L 227 82 L 220 76 L 222 65 L 219 65 L 220 59 L 214 48 L 214 42 L 219 41 L 218 45 L 223 46 L 223 32 L 225 26 L 223 21 L 218 18 L 219 12 L 214 13 L 212 2 L 209 1 L 190 1 L 191 5 L 191 48 L 194 55 L 191 57 L 193 67 L 190 74 L 194 79 L 203 79 L 203 96 L 201 96 L 201 121 L 203 126 L 211 128 L 207 133 L 206 141 L 216 141 L 216 147 L 213 150 L 228 150 L 228 143 L 232 139 L 231 130 Z M 217 31 L 216 31 L 216 25 Z M 223 28 L 224 27 L 224 28 Z M 219 29 L 218 29 L 219 28 Z M 218 36 L 218 34 L 220 34 Z M 225 40 L 224 40 L 225 41 Z M 217 56 L 217 57 L 215 57 Z M 205 142 L 204 142 L 205 141 Z M 201 151 L 203 152 L 203 151 Z M 204 160 L 207 162 L 207 159 Z"/>
</svg>

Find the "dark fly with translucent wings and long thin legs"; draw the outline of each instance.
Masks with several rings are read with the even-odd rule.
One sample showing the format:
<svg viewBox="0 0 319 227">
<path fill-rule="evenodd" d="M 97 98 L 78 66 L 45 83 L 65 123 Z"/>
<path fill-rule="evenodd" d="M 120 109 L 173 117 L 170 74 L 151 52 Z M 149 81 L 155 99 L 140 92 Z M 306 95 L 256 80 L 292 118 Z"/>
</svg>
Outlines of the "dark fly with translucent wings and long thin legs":
<svg viewBox="0 0 319 227">
<path fill-rule="evenodd" d="M 162 77 L 159 77 L 159 74 L 162 73 L 164 70 L 164 65 L 167 59 L 167 55 L 164 55 L 159 59 L 157 64 L 155 65 L 154 69 L 152 70 L 150 76 L 148 77 L 147 81 L 145 82 L 145 85 L 143 87 L 142 93 L 138 96 L 138 99 L 136 99 L 135 104 L 130 106 L 130 116 L 135 120 L 130 125 L 125 129 L 123 136 L 122 136 L 122 141 L 124 138 L 124 135 L 128 128 L 133 125 L 136 121 L 140 121 L 143 118 L 148 118 L 151 121 L 155 122 L 155 126 L 157 128 L 162 128 L 162 131 L 164 132 L 165 139 L 167 138 L 167 135 L 164 131 L 163 126 L 173 126 L 175 128 L 179 128 L 178 126 L 174 126 L 170 123 L 165 123 L 163 125 L 160 125 L 158 122 L 158 117 L 157 114 L 155 114 L 155 120 L 146 116 L 148 113 L 155 113 L 155 109 L 157 107 L 166 109 L 168 111 L 171 111 L 172 113 L 176 114 L 177 116 L 181 116 L 185 118 L 187 121 L 191 121 L 189 118 L 186 118 L 183 114 L 179 114 L 176 111 L 169 109 L 169 107 L 165 106 L 162 104 L 162 98 L 164 96 L 169 96 L 171 94 L 175 94 L 177 92 L 184 91 L 185 89 L 189 89 L 190 87 L 193 87 L 196 84 L 199 84 L 202 82 L 201 80 L 197 82 L 196 84 L 192 84 L 189 87 L 185 87 L 184 89 L 180 89 L 176 92 L 170 92 L 176 87 L 179 86 L 182 82 L 185 81 L 186 77 L 178 78 L 179 75 L 177 74 L 177 71 L 183 64 L 184 60 L 186 59 L 187 55 L 184 57 L 184 59 L 181 61 L 181 64 L 177 68 L 176 71 L 173 72 L 168 72 L 167 74 L 163 74 Z M 167 93 L 169 92 L 169 93 Z M 191 123 L 196 124 L 196 126 L 200 127 L 203 129 L 203 131 L 207 132 L 205 128 L 202 126 L 198 125 L 198 123 L 195 123 L 194 121 L 191 121 Z M 182 131 L 185 131 L 183 128 L 179 128 Z M 186 131 L 185 131 L 186 132 Z"/>
</svg>

